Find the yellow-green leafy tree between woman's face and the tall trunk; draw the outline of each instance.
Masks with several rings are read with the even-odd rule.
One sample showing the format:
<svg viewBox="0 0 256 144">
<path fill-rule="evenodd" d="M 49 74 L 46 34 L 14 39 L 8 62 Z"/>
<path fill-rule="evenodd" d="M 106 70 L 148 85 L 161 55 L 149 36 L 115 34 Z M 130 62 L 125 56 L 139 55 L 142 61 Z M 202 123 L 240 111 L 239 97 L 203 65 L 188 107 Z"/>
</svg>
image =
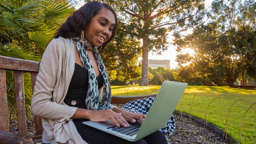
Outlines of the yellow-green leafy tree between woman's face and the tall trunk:
<svg viewBox="0 0 256 144">
<path fill-rule="evenodd" d="M 119 25 L 112 41 L 107 44 L 102 54 L 102 59 L 108 71 L 110 81 L 118 80 L 127 83 L 131 79 L 140 76 L 140 68 L 137 66 L 138 57 L 141 56 L 140 42 L 124 33 L 126 25 Z"/>
</svg>

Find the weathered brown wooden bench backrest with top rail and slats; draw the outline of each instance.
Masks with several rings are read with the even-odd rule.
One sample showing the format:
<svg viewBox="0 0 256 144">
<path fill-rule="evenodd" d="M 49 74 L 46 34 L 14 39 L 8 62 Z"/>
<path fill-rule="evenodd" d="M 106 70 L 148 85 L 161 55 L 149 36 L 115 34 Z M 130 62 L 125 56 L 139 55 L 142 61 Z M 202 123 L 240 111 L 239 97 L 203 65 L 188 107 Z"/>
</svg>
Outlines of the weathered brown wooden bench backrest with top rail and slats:
<svg viewBox="0 0 256 144">
<path fill-rule="evenodd" d="M 8 106 L 6 91 L 6 70 L 12 70 L 14 74 L 15 96 L 17 107 L 18 133 L 27 134 L 26 108 L 24 94 L 23 72 L 31 73 L 32 90 L 35 85 L 36 75 L 39 71 L 39 62 L 0 56 L 0 130 L 9 132 Z M 36 135 L 43 133 L 42 120 L 35 117 Z"/>
</svg>

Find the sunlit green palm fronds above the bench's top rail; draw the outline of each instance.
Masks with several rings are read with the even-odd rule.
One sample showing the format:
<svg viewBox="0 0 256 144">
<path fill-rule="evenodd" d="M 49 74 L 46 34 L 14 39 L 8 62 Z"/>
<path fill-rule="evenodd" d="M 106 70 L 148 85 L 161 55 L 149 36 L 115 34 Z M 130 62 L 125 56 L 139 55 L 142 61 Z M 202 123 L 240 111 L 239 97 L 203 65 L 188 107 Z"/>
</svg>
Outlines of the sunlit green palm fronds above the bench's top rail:
<svg viewBox="0 0 256 144">
<path fill-rule="evenodd" d="M 15 44 L 28 51 L 41 50 L 41 53 L 74 10 L 68 2 L 56 0 L 3 0 L 0 8 L 1 44 L 16 41 Z"/>
</svg>

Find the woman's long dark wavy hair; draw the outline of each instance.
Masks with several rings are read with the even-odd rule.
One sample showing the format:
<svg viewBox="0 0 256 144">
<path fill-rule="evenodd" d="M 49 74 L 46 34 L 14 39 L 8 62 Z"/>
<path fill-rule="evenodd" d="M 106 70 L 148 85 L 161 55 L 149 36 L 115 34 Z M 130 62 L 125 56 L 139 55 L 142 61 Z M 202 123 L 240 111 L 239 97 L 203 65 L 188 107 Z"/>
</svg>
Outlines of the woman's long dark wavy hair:
<svg viewBox="0 0 256 144">
<path fill-rule="evenodd" d="M 112 38 L 114 37 L 117 28 L 116 13 L 113 8 L 106 3 L 91 1 L 80 7 L 73 13 L 73 15 L 67 18 L 67 22 L 61 25 L 54 38 L 58 38 L 59 36 L 63 38 L 80 37 L 82 30 L 84 30 L 85 27 L 90 24 L 91 19 L 98 14 L 101 8 L 107 8 L 111 10 L 116 20 L 115 27 L 113 28 L 113 33 L 110 39 L 102 44 L 102 47 L 100 49 L 100 51 L 102 51 L 105 45 L 109 43 L 110 40 L 112 40 Z"/>
</svg>

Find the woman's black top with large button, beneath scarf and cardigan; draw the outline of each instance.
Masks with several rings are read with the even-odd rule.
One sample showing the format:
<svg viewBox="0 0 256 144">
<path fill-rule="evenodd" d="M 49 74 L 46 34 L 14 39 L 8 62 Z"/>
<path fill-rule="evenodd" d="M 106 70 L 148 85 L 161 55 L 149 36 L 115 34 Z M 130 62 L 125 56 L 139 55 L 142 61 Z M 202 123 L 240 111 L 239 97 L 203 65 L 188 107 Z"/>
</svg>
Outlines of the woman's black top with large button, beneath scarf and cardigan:
<svg viewBox="0 0 256 144">
<path fill-rule="evenodd" d="M 97 76 L 98 88 L 103 86 L 102 75 Z M 88 70 L 75 63 L 74 74 L 68 87 L 64 102 L 72 107 L 86 109 L 85 98 L 88 91 L 89 73 Z"/>
</svg>

